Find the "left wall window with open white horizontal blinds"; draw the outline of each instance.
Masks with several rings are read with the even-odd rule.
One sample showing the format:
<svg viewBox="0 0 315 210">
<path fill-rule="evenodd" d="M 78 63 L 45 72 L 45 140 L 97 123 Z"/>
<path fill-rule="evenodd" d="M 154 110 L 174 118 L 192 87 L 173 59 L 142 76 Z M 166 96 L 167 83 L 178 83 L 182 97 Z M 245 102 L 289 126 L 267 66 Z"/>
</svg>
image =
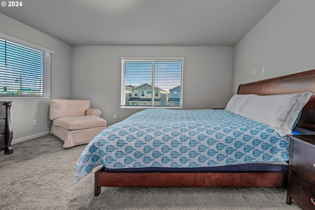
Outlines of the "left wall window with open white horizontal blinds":
<svg viewBox="0 0 315 210">
<path fill-rule="evenodd" d="M 0 96 L 51 97 L 51 53 L 0 38 Z"/>
</svg>

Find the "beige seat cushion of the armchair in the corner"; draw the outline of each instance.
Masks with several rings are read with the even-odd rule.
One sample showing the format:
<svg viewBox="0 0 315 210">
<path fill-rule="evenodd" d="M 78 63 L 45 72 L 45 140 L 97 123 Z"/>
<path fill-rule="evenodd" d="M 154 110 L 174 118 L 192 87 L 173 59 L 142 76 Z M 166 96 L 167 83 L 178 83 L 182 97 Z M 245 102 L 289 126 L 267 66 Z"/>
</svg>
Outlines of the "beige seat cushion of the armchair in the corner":
<svg viewBox="0 0 315 210">
<path fill-rule="evenodd" d="M 106 126 L 106 120 L 93 115 L 78 117 L 63 117 L 53 121 L 54 126 L 63 127 L 66 130 L 81 130 Z"/>
</svg>

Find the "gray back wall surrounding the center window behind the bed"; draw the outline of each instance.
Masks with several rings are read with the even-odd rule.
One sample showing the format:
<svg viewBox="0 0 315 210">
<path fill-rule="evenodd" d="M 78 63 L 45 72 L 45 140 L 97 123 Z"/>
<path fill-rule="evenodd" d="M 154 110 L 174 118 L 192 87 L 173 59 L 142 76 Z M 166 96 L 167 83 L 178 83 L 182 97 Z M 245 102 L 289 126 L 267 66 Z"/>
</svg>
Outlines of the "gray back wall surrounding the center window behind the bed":
<svg viewBox="0 0 315 210">
<path fill-rule="evenodd" d="M 230 99 L 233 47 L 74 46 L 72 98 L 91 100 L 108 125 L 141 110 L 120 108 L 121 56 L 184 56 L 184 109 L 225 107 Z"/>
</svg>

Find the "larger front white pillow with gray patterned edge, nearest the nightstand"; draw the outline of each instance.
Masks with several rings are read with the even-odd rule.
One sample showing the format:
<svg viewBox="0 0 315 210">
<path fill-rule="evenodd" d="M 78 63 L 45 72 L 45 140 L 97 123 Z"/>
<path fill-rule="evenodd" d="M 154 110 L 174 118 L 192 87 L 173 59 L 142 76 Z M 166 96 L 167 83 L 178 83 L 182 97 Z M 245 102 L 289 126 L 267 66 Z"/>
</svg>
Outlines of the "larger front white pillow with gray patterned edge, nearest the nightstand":
<svg viewBox="0 0 315 210">
<path fill-rule="evenodd" d="M 293 93 L 269 96 L 252 96 L 243 106 L 240 115 L 272 127 L 280 136 L 292 132 L 292 126 L 313 93 Z"/>
</svg>

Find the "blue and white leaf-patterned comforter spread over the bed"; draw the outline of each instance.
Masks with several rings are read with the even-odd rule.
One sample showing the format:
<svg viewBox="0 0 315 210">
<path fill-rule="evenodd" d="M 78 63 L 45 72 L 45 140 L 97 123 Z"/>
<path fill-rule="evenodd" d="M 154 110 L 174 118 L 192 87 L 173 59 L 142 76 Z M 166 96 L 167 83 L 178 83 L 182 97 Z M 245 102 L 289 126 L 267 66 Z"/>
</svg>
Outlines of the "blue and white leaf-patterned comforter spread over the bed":
<svg viewBox="0 0 315 210">
<path fill-rule="evenodd" d="M 146 109 L 100 132 L 75 167 L 78 182 L 107 168 L 209 167 L 287 161 L 289 142 L 227 110 Z"/>
</svg>

